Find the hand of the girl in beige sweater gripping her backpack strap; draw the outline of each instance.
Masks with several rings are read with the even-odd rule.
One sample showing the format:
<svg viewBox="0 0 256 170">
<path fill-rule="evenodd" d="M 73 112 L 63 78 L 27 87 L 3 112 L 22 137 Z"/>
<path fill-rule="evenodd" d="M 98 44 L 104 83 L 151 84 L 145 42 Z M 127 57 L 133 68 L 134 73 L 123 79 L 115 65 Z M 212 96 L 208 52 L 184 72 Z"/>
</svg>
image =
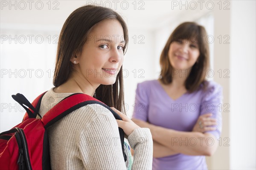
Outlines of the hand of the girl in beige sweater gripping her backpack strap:
<svg viewBox="0 0 256 170">
<path fill-rule="evenodd" d="M 115 111 L 122 118 L 122 121 L 117 120 L 117 119 L 116 119 L 116 121 L 117 121 L 118 127 L 122 128 L 122 130 L 124 130 L 124 132 L 127 136 L 129 136 L 134 131 L 134 129 L 140 128 L 131 119 L 129 119 L 125 114 L 123 114 L 116 108 L 111 107 L 111 109 L 113 109 L 113 111 Z"/>
</svg>

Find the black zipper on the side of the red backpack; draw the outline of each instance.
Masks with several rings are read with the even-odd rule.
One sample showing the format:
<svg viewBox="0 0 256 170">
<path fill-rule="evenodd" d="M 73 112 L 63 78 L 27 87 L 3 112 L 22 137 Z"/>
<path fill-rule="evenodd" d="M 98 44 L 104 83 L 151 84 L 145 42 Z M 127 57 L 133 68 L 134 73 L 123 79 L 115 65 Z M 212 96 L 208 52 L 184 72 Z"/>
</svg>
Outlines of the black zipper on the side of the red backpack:
<svg viewBox="0 0 256 170">
<path fill-rule="evenodd" d="M 20 164 L 20 162 L 21 162 L 21 166 L 22 166 L 22 162 L 24 161 L 23 155 L 25 155 L 27 169 L 32 170 L 32 167 L 31 167 L 31 164 L 29 161 L 29 150 L 28 150 L 28 146 L 26 143 L 26 137 L 25 137 L 24 131 L 18 127 L 16 127 L 16 129 L 18 130 L 18 132 L 15 133 L 15 137 L 16 137 L 18 145 L 19 145 L 19 153 L 20 153 L 20 156 L 18 159 L 18 164 Z M 24 152 L 23 152 L 23 150 L 24 150 Z"/>
</svg>

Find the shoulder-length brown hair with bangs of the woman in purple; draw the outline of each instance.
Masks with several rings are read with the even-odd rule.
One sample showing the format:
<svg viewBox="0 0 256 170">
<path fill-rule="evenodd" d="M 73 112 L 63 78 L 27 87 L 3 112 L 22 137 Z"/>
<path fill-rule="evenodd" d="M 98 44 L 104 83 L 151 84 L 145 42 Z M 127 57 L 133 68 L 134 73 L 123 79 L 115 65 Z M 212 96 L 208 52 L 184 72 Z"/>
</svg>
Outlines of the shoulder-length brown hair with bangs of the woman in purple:
<svg viewBox="0 0 256 170">
<path fill-rule="evenodd" d="M 181 23 L 172 32 L 168 38 L 166 45 L 160 55 L 160 81 L 163 84 L 172 83 L 174 69 L 169 61 L 168 52 L 172 42 L 185 39 L 196 41 L 198 43 L 200 55 L 198 61 L 192 66 L 188 77 L 185 81 L 185 87 L 188 92 L 194 92 L 203 84 L 205 86 L 206 72 L 209 67 L 209 44 L 206 42 L 207 32 L 203 26 L 194 22 Z"/>
</svg>

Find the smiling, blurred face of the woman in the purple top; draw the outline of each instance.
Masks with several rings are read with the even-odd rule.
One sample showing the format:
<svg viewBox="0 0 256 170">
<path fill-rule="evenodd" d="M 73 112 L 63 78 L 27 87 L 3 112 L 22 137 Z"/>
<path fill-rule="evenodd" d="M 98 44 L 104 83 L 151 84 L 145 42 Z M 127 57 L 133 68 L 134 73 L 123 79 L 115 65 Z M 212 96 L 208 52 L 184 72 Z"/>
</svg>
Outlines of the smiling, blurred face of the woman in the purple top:
<svg viewBox="0 0 256 170">
<path fill-rule="evenodd" d="M 180 39 L 171 43 L 168 57 L 174 69 L 189 70 L 200 55 L 199 46 L 196 42 Z"/>
</svg>

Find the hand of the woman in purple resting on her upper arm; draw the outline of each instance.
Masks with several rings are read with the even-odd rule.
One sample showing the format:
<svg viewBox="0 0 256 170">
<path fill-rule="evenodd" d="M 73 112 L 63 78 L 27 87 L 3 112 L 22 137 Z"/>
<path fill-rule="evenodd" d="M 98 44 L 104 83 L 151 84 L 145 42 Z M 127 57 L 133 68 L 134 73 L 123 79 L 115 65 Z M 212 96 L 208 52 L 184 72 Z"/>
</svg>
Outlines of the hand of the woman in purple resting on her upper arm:
<svg viewBox="0 0 256 170">
<path fill-rule="evenodd" d="M 212 127 L 216 125 L 216 119 L 211 118 L 212 113 L 207 113 L 204 115 L 199 116 L 198 121 L 195 123 L 195 126 L 193 128 L 193 132 L 201 132 L 204 133 L 206 131 L 215 130 L 215 127 Z"/>
</svg>

